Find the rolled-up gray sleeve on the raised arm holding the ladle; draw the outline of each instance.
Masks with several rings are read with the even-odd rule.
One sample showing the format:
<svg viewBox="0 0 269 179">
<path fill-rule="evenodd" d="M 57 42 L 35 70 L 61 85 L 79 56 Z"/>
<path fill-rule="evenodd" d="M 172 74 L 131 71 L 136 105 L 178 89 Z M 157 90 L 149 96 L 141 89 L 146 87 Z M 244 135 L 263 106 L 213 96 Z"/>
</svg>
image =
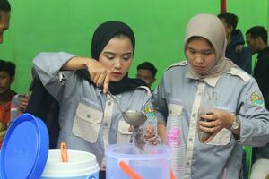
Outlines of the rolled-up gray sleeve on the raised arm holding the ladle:
<svg viewBox="0 0 269 179">
<path fill-rule="evenodd" d="M 33 67 L 38 73 L 40 81 L 48 92 L 58 101 L 62 98 L 65 79 L 73 73 L 70 71 L 61 72 L 60 69 L 74 56 L 75 55 L 65 52 L 43 52 L 37 55 L 33 60 Z"/>
</svg>

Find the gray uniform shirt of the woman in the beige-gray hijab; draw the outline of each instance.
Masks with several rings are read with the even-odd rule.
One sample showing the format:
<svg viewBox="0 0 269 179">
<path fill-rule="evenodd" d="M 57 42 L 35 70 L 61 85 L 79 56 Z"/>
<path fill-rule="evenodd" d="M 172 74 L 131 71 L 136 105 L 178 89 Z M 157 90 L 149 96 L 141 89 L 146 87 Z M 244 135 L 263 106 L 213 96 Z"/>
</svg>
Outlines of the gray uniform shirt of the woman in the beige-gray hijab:
<svg viewBox="0 0 269 179">
<path fill-rule="evenodd" d="M 158 121 L 167 125 L 166 142 L 173 152 L 177 178 L 239 178 L 242 145 L 262 146 L 269 141 L 269 113 L 256 81 L 239 68 L 221 76 L 190 78 L 187 61 L 172 65 L 153 92 Z M 204 92 L 215 108 L 239 116 L 240 138 L 222 129 L 210 143 L 197 137 L 197 122 Z"/>
</svg>

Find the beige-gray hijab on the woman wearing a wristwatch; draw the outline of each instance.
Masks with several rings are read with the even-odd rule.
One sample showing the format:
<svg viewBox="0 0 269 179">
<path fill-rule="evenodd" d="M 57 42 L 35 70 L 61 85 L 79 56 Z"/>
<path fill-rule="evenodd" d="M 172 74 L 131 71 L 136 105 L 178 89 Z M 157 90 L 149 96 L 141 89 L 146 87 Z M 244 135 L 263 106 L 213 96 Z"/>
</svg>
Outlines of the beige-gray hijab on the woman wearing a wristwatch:
<svg viewBox="0 0 269 179">
<path fill-rule="evenodd" d="M 189 74 L 195 79 L 203 79 L 219 76 L 228 72 L 231 66 L 236 66 L 230 60 L 225 58 L 225 49 L 227 45 L 226 33 L 222 22 L 213 14 L 198 14 L 188 21 L 185 34 L 185 50 L 189 38 L 206 38 L 213 45 L 216 61 L 212 69 L 205 74 L 199 74 L 190 66 Z"/>
</svg>

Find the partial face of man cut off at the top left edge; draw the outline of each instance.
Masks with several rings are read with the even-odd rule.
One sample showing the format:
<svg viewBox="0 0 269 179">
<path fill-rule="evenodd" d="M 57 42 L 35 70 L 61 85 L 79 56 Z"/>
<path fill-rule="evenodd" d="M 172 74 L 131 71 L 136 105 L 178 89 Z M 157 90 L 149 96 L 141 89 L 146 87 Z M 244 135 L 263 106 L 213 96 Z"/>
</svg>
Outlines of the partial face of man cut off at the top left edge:
<svg viewBox="0 0 269 179">
<path fill-rule="evenodd" d="M 7 0 L 0 0 L 0 44 L 3 43 L 4 31 L 9 27 L 11 6 Z"/>
</svg>

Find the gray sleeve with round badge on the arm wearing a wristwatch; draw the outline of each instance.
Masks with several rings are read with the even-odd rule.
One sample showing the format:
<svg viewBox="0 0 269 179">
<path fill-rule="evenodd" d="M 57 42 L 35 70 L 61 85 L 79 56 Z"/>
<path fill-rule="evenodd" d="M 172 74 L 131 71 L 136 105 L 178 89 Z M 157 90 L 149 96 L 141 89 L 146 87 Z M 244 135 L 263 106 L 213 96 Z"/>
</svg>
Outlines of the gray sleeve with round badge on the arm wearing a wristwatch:
<svg viewBox="0 0 269 179">
<path fill-rule="evenodd" d="M 254 79 L 246 83 L 239 97 L 239 119 L 243 145 L 264 146 L 269 142 L 269 112 Z"/>
</svg>

